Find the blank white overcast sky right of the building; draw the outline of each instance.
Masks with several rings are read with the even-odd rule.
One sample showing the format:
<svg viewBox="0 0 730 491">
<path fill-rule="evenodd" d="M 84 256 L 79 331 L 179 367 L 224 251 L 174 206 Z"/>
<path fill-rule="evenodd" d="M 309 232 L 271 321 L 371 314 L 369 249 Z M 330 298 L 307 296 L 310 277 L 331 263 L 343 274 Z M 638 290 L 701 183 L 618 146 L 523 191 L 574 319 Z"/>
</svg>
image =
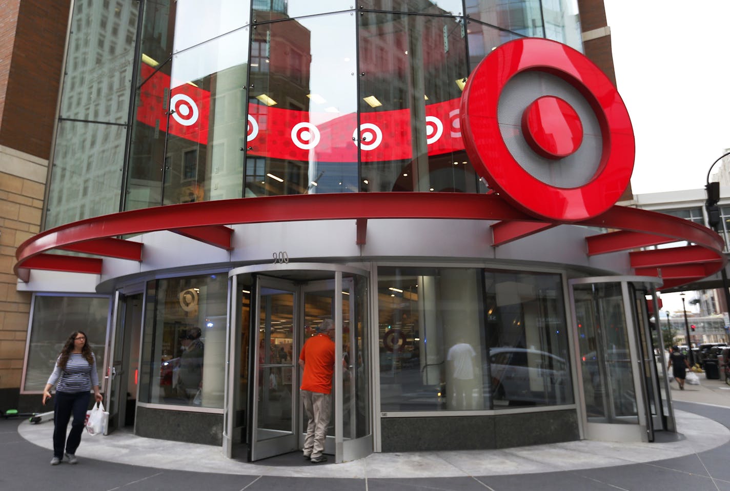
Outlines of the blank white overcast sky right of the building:
<svg viewBox="0 0 730 491">
<path fill-rule="evenodd" d="M 634 126 L 634 194 L 704 188 L 730 148 L 730 0 L 604 4 Z"/>
</svg>

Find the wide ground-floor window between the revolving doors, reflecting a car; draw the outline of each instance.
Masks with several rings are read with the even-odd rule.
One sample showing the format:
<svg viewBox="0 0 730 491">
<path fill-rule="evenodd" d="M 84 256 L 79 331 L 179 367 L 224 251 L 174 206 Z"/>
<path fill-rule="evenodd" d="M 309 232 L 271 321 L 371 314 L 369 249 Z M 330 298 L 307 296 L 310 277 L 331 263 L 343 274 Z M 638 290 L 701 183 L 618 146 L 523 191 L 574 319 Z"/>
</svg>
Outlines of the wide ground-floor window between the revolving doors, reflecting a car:
<svg viewBox="0 0 730 491">
<path fill-rule="evenodd" d="M 558 274 L 378 268 L 381 411 L 573 403 Z"/>
</svg>

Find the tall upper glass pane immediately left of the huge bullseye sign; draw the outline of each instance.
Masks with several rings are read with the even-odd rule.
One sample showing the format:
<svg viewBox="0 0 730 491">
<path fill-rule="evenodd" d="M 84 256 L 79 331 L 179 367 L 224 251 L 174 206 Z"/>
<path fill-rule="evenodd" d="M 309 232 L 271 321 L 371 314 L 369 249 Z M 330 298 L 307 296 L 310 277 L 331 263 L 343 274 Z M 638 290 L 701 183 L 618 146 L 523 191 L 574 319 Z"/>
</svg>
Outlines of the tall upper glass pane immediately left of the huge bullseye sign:
<svg viewBox="0 0 730 491">
<path fill-rule="evenodd" d="M 463 24 L 364 12 L 358 32 L 361 190 L 477 192 L 458 120 Z"/>
</svg>

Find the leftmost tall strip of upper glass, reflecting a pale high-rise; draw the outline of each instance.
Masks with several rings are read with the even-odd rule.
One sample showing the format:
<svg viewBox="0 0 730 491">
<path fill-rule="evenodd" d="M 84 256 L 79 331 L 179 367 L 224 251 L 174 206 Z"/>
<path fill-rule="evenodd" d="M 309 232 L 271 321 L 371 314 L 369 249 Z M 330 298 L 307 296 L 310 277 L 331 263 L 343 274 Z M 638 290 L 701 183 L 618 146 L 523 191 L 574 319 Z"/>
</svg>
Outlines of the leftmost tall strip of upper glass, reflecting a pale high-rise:
<svg viewBox="0 0 730 491">
<path fill-rule="evenodd" d="M 74 2 L 47 230 L 119 211 L 139 2 Z"/>
</svg>

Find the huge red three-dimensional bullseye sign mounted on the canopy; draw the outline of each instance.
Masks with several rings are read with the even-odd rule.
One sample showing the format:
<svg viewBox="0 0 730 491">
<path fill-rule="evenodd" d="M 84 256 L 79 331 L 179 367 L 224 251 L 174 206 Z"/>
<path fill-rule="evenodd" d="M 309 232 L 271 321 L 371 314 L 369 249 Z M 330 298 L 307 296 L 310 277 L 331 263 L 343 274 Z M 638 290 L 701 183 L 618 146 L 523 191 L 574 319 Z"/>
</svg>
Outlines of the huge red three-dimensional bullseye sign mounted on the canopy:
<svg viewBox="0 0 730 491">
<path fill-rule="evenodd" d="M 545 87 L 530 85 L 525 74 L 543 77 Z M 575 93 L 572 101 L 562 97 L 564 87 Z M 500 115 L 505 107 L 521 116 L 516 124 Z M 634 132 L 618 91 L 582 53 L 548 39 L 508 42 L 477 66 L 461 96 L 461 132 L 489 186 L 542 219 L 575 222 L 606 212 L 634 168 Z M 571 174 L 588 177 L 576 184 Z"/>
</svg>

